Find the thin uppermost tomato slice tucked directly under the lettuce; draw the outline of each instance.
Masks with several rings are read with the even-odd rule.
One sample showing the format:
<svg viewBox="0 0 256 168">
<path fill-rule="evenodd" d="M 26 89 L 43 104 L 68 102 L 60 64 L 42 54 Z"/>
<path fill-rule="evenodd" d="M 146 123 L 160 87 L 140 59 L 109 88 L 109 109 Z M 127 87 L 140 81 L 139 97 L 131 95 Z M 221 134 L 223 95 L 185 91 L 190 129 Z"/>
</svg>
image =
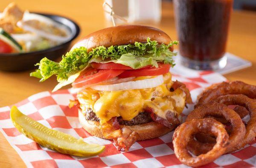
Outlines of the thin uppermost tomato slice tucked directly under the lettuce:
<svg viewBox="0 0 256 168">
<path fill-rule="evenodd" d="M 91 66 L 95 69 L 111 69 L 111 70 L 133 70 L 132 67 L 123 65 L 123 64 L 117 64 L 114 62 L 108 62 L 108 63 L 96 63 L 96 62 L 92 62 Z M 151 67 L 151 65 L 142 67 L 142 68 L 146 68 L 146 67 Z"/>
</svg>

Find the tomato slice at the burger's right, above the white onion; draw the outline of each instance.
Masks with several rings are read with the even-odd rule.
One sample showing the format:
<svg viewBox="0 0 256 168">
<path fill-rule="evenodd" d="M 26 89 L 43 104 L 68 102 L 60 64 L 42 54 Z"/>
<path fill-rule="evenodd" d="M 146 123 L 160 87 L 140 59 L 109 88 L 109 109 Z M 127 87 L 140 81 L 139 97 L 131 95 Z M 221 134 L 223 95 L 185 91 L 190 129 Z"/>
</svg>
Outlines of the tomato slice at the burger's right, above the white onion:
<svg viewBox="0 0 256 168">
<path fill-rule="evenodd" d="M 138 70 L 125 70 L 125 72 L 119 75 L 120 78 L 128 78 L 131 76 L 157 76 L 168 73 L 171 65 L 169 64 L 158 64 L 158 68 L 150 67 Z"/>
</svg>

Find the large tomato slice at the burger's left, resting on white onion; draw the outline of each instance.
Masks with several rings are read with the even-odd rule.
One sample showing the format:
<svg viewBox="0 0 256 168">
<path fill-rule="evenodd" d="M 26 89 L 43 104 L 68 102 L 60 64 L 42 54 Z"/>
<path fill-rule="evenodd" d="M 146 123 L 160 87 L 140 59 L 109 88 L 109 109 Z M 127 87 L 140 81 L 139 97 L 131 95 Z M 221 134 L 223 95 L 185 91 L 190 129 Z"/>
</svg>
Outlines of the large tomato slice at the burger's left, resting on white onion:
<svg viewBox="0 0 256 168">
<path fill-rule="evenodd" d="M 100 83 L 102 81 L 114 78 L 125 70 L 96 70 L 90 68 L 88 70 L 84 70 L 83 73 L 73 82 L 72 87 L 88 87 L 93 84 Z"/>
</svg>

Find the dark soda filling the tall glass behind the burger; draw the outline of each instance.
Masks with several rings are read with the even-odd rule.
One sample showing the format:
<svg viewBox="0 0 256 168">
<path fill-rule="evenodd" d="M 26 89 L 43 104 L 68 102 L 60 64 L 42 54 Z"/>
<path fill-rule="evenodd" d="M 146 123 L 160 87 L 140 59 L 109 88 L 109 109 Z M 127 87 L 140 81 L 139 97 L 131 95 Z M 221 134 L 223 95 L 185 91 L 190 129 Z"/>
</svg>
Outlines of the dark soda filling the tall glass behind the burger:
<svg viewBox="0 0 256 168">
<path fill-rule="evenodd" d="M 204 62 L 224 56 L 233 0 L 174 0 L 180 55 Z"/>
</svg>

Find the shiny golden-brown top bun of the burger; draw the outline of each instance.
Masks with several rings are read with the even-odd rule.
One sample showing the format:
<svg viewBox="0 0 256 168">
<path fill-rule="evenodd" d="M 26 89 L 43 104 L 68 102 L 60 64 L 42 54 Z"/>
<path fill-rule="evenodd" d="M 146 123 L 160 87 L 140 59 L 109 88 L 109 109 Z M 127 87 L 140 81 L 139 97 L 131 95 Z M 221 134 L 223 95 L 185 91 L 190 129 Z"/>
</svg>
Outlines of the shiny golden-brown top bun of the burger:
<svg viewBox="0 0 256 168">
<path fill-rule="evenodd" d="M 77 42 L 74 48 L 85 47 L 87 51 L 93 48 L 111 45 L 127 45 L 134 44 L 134 42 L 147 42 L 147 38 L 156 40 L 159 44 L 164 43 L 168 45 L 172 39 L 163 31 L 143 25 L 119 25 L 110 28 L 104 28 L 92 34 L 85 36 Z M 173 48 L 170 48 L 172 51 Z"/>
</svg>

